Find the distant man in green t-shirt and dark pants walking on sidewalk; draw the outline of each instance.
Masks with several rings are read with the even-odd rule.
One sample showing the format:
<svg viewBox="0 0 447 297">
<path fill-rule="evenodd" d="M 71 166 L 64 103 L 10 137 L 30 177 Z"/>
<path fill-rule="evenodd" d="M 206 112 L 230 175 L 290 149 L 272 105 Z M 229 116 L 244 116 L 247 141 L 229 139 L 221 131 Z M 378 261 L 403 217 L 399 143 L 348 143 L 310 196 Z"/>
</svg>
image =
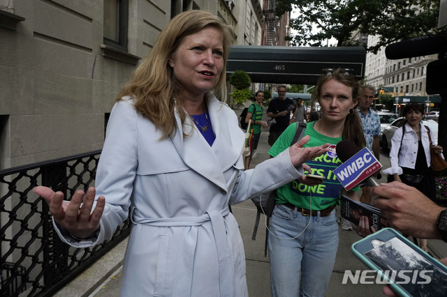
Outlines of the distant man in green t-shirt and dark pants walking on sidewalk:
<svg viewBox="0 0 447 297">
<path fill-rule="evenodd" d="M 245 117 L 245 123 L 251 121 L 251 129 L 253 130 L 253 136 L 250 144 L 250 155 L 247 155 L 244 159 L 244 169 L 250 169 L 251 158 L 254 155 L 254 151 L 258 148 L 259 138 L 261 137 L 261 128 L 267 128 L 268 125 L 263 121 L 263 101 L 264 92 L 257 91 L 254 95 L 254 103 L 249 106 L 247 116 Z"/>
</svg>

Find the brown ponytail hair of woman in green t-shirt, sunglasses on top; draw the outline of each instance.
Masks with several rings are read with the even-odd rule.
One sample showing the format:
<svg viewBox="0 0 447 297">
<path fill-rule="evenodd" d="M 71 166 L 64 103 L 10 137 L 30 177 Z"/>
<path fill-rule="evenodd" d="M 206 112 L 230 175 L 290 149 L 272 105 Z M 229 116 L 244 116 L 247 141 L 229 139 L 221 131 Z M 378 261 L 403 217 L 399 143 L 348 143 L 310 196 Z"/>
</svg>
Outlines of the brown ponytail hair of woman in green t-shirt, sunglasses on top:
<svg viewBox="0 0 447 297">
<path fill-rule="evenodd" d="M 349 114 L 344 120 L 342 139 L 351 140 L 357 144 L 357 146 L 364 147 L 366 145 L 366 141 L 365 136 L 363 135 L 362 120 L 360 120 L 360 116 L 358 116 L 356 109 L 358 103 L 360 102 L 361 86 L 358 84 L 356 76 L 351 71 L 352 70 L 350 69 L 344 68 L 325 70 L 325 73 L 320 76 L 318 82 L 316 83 L 315 96 L 316 99 L 320 98 L 323 84 L 328 82 L 330 79 L 335 79 L 337 82 L 341 82 L 345 86 L 351 87 L 353 101 L 357 103 L 356 106 L 349 111 Z"/>
</svg>

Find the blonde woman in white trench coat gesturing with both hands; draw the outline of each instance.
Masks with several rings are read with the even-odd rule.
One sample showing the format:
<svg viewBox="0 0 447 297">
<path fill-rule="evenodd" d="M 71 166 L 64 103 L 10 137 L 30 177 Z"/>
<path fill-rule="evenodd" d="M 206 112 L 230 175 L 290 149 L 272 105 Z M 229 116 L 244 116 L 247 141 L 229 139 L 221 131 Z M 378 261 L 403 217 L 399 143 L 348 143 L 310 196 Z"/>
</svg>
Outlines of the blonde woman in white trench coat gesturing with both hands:
<svg viewBox="0 0 447 297">
<path fill-rule="evenodd" d="M 75 247 L 134 223 L 121 296 L 247 296 L 242 238 L 228 204 L 300 178 L 328 151 L 309 137 L 243 171 L 244 133 L 225 98 L 230 33 L 200 10 L 177 15 L 119 93 L 110 114 L 96 188 L 37 187 L 59 236 Z M 83 202 L 83 203 L 82 203 Z M 82 204 L 81 204 L 82 203 Z"/>
</svg>

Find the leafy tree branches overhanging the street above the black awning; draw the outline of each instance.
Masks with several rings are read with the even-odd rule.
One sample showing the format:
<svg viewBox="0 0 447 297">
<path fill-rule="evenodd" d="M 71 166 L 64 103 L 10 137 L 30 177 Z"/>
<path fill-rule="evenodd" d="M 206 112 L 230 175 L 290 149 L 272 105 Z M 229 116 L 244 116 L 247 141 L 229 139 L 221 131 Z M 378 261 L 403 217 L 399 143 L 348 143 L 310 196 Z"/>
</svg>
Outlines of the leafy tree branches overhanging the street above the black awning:
<svg viewBox="0 0 447 297">
<path fill-rule="evenodd" d="M 295 36 L 293 45 L 325 45 L 335 38 L 337 46 L 365 46 L 359 33 L 380 36 L 379 43 L 367 47 L 376 53 L 380 47 L 439 33 L 439 0 L 277 0 L 275 14 L 295 8 L 298 17 L 291 19 Z"/>
</svg>

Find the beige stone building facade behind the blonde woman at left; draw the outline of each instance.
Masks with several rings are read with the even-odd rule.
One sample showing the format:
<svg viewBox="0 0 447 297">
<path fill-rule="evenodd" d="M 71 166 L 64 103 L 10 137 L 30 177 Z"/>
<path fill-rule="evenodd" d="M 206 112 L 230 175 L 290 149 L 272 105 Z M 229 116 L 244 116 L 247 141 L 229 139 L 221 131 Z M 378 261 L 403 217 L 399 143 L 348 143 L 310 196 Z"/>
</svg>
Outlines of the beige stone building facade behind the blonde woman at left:
<svg viewBox="0 0 447 297">
<path fill-rule="evenodd" d="M 261 45 L 258 0 L 0 0 L 0 169 L 102 148 L 119 89 L 191 9 Z"/>
</svg>

